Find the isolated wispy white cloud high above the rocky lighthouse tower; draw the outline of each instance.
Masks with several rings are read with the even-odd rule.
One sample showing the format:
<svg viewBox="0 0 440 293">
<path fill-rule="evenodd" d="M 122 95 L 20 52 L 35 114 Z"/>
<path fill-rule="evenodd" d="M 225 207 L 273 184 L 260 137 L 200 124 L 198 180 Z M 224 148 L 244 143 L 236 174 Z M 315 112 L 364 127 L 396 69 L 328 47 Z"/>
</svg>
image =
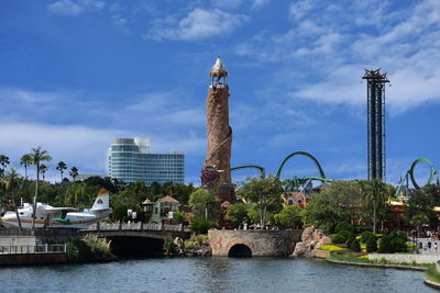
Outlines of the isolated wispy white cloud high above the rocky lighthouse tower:
<svg viewBox="0 0 440 293">
<path fill-rule="evenodd" d="M 146 36 L 157 40 L 200 40 L 232 32 L 245 20 L 246 16 L 242 14 L 196 8 L 180 20 L 173 16 L 155 20 Z"/>
</svg>

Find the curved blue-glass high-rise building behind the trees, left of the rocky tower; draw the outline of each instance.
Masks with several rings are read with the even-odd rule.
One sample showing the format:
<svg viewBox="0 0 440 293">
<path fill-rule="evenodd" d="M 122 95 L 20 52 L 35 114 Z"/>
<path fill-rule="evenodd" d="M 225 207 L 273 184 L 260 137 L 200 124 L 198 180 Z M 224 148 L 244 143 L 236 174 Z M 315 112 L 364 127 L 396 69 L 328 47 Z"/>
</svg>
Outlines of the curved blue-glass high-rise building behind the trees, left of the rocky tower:
<svg viewBox="0 0 440 293">
<path fill-rule="evenodd" d="M 152 153 L 142 138 L 114 138 L 108 150 L 108 176 L 125 183 L 185 183 L 183 151 Z"/>
</svg>

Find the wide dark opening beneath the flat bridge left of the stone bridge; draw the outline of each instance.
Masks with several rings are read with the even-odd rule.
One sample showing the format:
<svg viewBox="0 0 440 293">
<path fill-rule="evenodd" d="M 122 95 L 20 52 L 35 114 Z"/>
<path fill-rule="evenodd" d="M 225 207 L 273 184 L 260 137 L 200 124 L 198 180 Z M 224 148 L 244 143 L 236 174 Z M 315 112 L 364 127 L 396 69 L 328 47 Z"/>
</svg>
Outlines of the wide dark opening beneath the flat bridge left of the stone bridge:
<svg viewBox="0 0 440 293">
<path fill-rule="evenodd" d="M 110 240 L 111 252 L 119 257 L 163 256 L 163 239 L 132 236 L 113 236 L 107 239 Z"/>
</svg>

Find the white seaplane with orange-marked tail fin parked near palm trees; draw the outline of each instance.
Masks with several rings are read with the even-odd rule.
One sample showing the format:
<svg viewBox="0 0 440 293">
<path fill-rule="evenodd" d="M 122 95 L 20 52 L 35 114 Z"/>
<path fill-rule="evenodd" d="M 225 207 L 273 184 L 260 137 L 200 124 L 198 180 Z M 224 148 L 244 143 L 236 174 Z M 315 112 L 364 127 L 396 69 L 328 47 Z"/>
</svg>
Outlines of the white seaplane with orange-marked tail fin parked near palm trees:
<svg viewBox="0 0 440 293">
<path fill-rule="evenodd" d="M 32 212 L 31 203 L 24 203 L 23 207 L 19 209 L 22 228 L 32 228 Z M 82 212 L 74 207 L 53 207 L 48 204 L 36 203 L 35 227 L 84 229 L 108 218 L 111 212 L 109 192 L 101 189 L 91 209 Z M 19 227 L 16 212 L 7 212 L 1 218 L 1 224 L 7 228 Z"/>
</svg>

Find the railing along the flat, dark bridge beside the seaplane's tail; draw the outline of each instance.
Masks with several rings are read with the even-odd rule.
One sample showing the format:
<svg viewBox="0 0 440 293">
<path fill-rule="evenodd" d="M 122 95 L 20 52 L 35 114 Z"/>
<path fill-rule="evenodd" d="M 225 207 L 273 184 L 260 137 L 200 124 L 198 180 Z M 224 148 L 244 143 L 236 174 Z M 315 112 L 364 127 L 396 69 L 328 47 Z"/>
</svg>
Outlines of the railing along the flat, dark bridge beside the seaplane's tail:
<svg viewBox="0 0 440 293">
<path fill-rule="evenodd" d="M 167 225 L 153 223 L 95 223 L 84 230 L 167 230 L 167 232 L 189 232 L 183 224 Z"/>
</svg>

